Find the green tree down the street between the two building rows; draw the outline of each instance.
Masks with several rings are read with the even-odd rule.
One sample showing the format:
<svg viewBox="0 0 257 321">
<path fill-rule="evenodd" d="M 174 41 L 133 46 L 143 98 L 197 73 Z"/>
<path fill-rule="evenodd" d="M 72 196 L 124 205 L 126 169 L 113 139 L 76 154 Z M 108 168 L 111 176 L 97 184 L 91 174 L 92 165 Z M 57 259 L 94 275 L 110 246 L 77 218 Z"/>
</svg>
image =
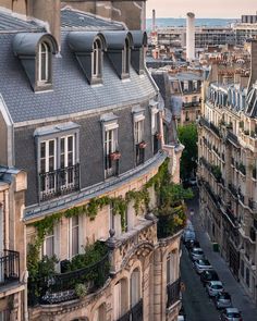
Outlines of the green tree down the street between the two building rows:
<svg viewBox="0 0 257 321">
<path fill-rule="evenodd" d="M 181 157 L 181 178 L 185 180 L 192 176 L 197 168 L 197 126 L 188 124 L 179 126 L 179 139 L 185 146 Z"/>
</svg>

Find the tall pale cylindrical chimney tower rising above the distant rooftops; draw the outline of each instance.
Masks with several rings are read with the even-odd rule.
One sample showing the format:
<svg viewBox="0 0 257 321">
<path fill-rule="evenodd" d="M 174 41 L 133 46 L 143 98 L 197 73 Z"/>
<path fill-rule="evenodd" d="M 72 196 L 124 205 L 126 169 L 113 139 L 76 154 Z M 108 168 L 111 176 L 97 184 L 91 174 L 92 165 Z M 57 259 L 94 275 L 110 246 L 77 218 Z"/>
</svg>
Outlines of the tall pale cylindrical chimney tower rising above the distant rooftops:
<svg viewBox="0 0 257 321">
<path fill-rule="evenodd" d="M 195 14 L 186 14 L 186 60 L 195 60 Z"/>
</svg>

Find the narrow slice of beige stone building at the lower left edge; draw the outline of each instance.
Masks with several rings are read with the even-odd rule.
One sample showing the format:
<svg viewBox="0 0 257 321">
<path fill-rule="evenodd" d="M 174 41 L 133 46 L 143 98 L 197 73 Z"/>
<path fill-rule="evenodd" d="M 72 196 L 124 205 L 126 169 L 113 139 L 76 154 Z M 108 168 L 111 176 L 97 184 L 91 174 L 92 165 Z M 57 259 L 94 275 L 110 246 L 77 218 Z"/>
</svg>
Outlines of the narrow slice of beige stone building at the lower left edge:
<svg viewBox="0 0 257 321">
<path fill-rule="evenodd" d="M 0 168 L 0 320 L 24 320 L 26 248 L 23 217 L 26 175 Z"/>
</svg>

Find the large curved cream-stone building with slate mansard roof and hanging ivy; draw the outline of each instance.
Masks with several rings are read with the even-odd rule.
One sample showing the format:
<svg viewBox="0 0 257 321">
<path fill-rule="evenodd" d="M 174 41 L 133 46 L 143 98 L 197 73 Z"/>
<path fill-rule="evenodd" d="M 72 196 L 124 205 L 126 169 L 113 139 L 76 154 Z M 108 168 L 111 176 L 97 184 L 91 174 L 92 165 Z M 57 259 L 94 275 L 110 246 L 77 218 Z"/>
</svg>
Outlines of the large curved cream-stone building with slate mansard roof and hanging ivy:
<svg viewBox="0 0 257 321">
<path fill-rule="evenodd" d="M 40 5 L 40 15 L 57 2 Z M 47 32 L 0 12 L 0 163 L 23 169 L 28 182 L 12 221 L 24 222 L 24 232 L 12 231 L 23 239 L 11 248 L 20 251 L 25 283 L 13 320 L 174 321 L 183 226 L 169 235 L 158 227 L 152 177 L 169 158 L 179 183 L 181 151 L 178 143 L 163 144 L 146 34 L 72 9 L 59 14 L 61 28 L 50 22 Z M 100 258 L 73 269 L 85 247 Z M 37 251 L 59 259 L 39 280 Z"/>
</svg>

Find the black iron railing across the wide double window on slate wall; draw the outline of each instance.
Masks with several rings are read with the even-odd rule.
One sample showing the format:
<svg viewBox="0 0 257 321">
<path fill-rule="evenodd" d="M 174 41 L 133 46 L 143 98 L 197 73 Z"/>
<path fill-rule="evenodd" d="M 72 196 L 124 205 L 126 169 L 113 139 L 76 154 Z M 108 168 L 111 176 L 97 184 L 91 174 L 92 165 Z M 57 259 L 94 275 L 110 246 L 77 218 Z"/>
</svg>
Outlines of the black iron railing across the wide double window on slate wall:
<svg viewBox="0 0 257 321">
<path fill-rule="evenodd" d="M 40 200 L 66 195 L 79 189 L 79 164 L 39 173 Z"/>
</svg>

